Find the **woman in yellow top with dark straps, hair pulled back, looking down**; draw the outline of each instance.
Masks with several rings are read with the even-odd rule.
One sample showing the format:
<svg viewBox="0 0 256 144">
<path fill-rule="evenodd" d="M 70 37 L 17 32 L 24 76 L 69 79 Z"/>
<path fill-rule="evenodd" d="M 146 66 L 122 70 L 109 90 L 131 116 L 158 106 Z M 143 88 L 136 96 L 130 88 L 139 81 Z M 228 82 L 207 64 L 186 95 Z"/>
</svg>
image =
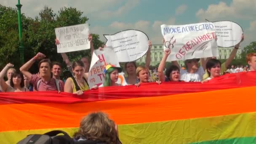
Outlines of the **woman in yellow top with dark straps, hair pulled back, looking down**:
<svg viewBox="0 0 256 144">
<path fill-rule="evenodd" d="M 85 78 L 86 73 L 83 61 L 74 61 L 72 64 L 72 72 L 74 75 L 67 78 L 64 85 L 64 92 L 74 93 L 78 96 L 82 95 L 84 91 L 88 91 L 90 89 Z M 93 88 L 96 89 L 98 87 L 95 85 Z"/>
</svg>

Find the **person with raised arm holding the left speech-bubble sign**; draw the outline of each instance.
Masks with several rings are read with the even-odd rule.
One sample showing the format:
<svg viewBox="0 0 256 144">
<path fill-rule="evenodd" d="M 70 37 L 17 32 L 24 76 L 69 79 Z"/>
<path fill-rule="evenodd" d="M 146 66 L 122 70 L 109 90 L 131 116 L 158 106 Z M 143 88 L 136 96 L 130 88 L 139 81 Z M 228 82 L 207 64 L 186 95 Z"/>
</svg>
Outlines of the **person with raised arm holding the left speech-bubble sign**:
<svg viewBox="0 0 256 144">
<path fill-rule="evenodd" d="M 145 67 L 149 69 L 150 65 L 150 50 L 151 49 L 151 41 L 149 40 L 149 49 L 147 51 L 146 60 L 145 60 Z M 136 71 L 136 63 L 135 62 L 127 62 L 125 63 L 125 71 L 127 72 L 128 77 L 125 77 L 126 83 L 129 85 L 134 85 L 136 83 L 139 83 L 139 80 L 135 74 Z"/>
</svg>

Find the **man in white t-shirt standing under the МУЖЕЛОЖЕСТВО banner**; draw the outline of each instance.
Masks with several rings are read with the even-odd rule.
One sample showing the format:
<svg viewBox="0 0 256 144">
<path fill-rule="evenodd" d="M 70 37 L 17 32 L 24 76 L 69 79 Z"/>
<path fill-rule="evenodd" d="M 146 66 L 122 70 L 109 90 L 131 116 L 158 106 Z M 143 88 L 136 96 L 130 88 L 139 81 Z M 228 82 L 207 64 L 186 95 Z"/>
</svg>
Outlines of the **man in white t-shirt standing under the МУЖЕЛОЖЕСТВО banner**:
<svg viewBox="0 0 256 144">
<path fill-rule="evenodd" d="M 180 69 L 181 80 L 185 82 L 201 82 L 203 79 L 203 75 L 205 74 L 205 61 L 201 59 L 201 66 L 198 67 L 198 61 L 200 59 L 187 59 L 185 60 L 185 65 L 187 70 Z M 179 64 L 177 61 L 173 61 L 177 67 Z M 180 67 L 179 67 L 180 68 Z"/>
</svg>

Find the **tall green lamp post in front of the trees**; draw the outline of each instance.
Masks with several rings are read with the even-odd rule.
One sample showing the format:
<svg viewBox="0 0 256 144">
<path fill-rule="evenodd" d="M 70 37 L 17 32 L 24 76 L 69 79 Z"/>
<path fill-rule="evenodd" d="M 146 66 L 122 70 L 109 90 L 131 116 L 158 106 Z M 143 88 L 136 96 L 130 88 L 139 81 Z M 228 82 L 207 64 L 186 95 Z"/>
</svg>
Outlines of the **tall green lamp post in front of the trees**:
<svg viewBox="0 0 256 144">
<path fill-rule="evenodd" d="M 24 46 L 23 46 L 23 41 L 22 41 L 22 27 L 21 27 L 21 4 L 19 3 L 16 5 L 18 8 L 18 22 L 19 22 L 19 54 L 20 54 L 20 60 L 21 64 L 24 64 Z"/>
</svg>

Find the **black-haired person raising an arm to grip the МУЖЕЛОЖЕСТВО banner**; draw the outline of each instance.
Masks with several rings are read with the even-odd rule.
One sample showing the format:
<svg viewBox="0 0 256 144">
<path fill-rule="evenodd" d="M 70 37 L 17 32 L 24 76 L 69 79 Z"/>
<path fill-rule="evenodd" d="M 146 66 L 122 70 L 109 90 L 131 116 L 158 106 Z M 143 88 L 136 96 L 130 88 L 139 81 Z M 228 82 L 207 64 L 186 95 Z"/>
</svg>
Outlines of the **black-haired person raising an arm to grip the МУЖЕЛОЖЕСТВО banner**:
<svg viewBox="0 0 256 144">
<path fill-rule="evenodd" d="M 164 75 L 164 68 L 165 68 L 165 62 L 168 58 L 168 56 L 170 55 L 171 50 L 170 49 L 166 49 L 163 59 L 159 64 L 158 67 L 158 77 L 159 80 L 161 82 L 180 82 L 180 72 L 179 72 L 179 67 L 177 67 L 176 65 L 171 65 L 170 67 L 168 67 L 168 69 L 165 71 L 165 75 Z"/>
</svg>

